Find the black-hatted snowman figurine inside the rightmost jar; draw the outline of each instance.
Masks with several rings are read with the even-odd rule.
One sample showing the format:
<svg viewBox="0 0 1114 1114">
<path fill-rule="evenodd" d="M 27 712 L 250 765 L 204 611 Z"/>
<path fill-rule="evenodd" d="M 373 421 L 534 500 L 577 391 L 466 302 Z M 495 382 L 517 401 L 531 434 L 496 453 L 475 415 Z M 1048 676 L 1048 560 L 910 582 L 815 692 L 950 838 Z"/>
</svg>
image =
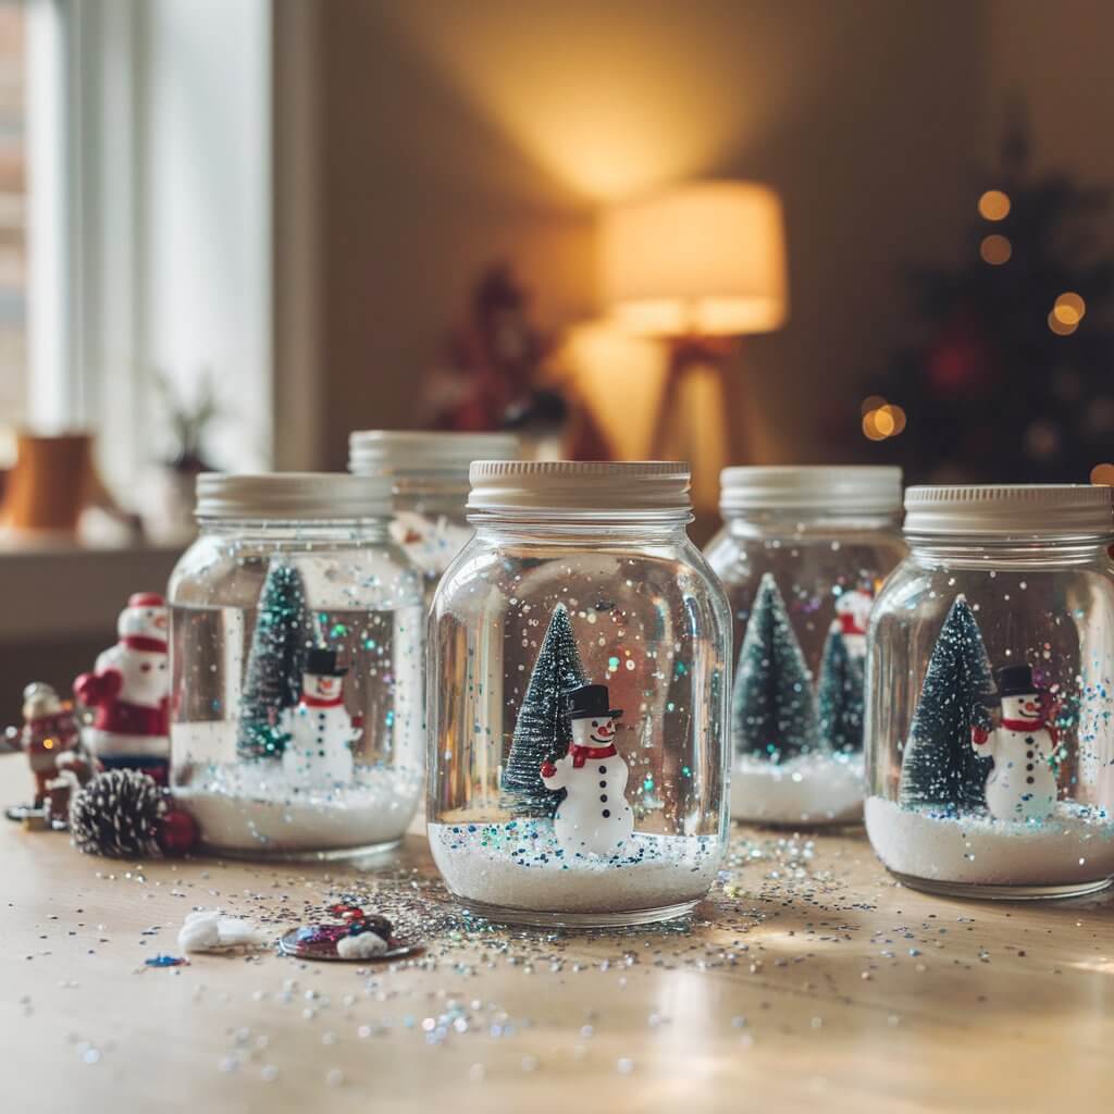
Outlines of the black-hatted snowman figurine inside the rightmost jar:
<svg viewBox="0 0 1114 1114">
<path fill-rule="evenodd" d="M 1047 820 L 1056 804 L 1052 759 L 1058 737 L 1048 706 L 1027 665 L 995 671 L 1001 717 L 998 726 L 973 727 L 976 753 L 994 759 L 986 779 L 986 804 L 996 820 Z"/>
</svg>

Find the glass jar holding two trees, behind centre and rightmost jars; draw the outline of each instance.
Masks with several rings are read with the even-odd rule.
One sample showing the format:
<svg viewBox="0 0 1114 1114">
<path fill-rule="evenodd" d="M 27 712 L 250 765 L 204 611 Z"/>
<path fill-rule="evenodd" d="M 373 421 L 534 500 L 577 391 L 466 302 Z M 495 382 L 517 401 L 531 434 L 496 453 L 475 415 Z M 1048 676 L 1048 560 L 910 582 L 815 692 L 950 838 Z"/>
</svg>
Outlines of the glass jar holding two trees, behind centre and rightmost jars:
<svg viewBox="0 0 1114 1114">
<path fill-rule="evenodd" d="M 901 470 L 726 468 L 709 564 L 735 624 L 731 814 L 862 817 L 867 618 L 905 555 Z"/>
</svg>

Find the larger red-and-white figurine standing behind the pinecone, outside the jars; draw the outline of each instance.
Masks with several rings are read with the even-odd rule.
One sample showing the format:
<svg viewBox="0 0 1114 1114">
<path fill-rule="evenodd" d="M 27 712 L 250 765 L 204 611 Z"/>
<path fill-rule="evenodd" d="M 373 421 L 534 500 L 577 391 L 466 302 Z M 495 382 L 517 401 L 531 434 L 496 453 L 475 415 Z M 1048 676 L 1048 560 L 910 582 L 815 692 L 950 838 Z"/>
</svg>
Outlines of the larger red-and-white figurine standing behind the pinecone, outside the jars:
<svg viewBox="0 0 1114 1114">
<path fill-rule="evenodd" d="M 119 641 L 74 682 L 78 701 L 96 709 L 86 734 L 92 755 L 107 769 L 143 770 L 160 784 L 170 751 L 168 622 L 162 596 L 131 596 L 116 624 Z"/>
</svg>

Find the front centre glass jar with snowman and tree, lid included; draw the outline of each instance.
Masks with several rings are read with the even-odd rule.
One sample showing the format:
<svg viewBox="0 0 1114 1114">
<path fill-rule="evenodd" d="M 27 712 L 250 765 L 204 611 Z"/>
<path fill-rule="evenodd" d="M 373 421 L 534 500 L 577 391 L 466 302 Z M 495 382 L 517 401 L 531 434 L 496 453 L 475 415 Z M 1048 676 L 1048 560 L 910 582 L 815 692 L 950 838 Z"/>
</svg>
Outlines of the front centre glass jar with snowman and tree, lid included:
<svg viewBox="0 0 1114 1114">
<path fill-rule="evenodd" d="M 466 908 L 686 913 L 726 847 L 731 616 L 668 462 L 478 461 L 429 626 L 429 840 Z"/>
</svg>

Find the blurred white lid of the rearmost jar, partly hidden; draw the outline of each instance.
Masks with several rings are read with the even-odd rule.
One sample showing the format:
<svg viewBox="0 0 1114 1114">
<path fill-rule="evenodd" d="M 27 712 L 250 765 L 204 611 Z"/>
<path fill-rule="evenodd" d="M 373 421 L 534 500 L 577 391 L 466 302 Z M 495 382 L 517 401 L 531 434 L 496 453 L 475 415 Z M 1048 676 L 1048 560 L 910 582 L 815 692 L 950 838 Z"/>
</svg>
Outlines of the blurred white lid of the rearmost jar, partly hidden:
<svg viewBox="0 0 1114 1114">
<path fill-rule="evenodd" d="M 519 456 L 514 433 L 363 429 L 349 436 L 349 471 L 356 476 L 452 472 L 463 481 L 473 460 L 517 460 Z"/>
</svg>

